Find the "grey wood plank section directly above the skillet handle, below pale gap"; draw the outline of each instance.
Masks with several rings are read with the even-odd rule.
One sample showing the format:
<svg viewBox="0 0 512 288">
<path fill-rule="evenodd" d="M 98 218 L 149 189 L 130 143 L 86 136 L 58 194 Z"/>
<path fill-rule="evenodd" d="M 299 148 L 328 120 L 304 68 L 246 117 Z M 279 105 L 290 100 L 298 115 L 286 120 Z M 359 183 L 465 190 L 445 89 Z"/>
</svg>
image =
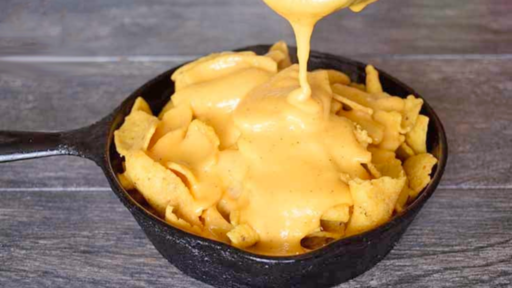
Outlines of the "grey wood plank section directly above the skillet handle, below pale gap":
<svg viewBox="0 0 512 288">
<path fill-rule="evenodd" d="M 170 63 L 4 63 L 0 129 L 68 130 L 92 124 Z"/>
</svg>

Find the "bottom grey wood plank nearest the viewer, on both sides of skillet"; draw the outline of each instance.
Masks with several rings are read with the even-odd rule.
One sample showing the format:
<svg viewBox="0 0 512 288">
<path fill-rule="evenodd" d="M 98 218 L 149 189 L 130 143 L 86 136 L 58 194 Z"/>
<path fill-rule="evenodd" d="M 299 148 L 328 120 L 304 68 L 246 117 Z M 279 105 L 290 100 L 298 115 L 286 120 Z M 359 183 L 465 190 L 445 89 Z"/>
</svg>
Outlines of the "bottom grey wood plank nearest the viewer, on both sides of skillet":
<svg viewBox="0 0 512 288">
<path fill-rule="evenodd" d="M 168 264 L 106 191 L 0 192 L 2 287 L 207 287 Z M 512 284 L 512 190 L 438 190 L 396 248 L 339 287 Z"/>
</svg>

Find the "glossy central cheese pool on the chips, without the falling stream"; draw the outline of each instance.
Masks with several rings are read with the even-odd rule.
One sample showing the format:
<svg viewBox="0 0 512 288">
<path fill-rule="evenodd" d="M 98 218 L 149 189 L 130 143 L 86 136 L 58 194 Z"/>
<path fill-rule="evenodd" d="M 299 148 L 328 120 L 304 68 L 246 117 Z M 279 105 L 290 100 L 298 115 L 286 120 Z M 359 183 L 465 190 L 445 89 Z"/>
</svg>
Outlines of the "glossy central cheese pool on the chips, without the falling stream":
<svg viewBox="0 0 512 288">
<path fill-rule="evenodd" d="M 368 178 L 360 163 L 371 154 L 357 142 L 352 122 L 324 113 L 332 95 L 326 73 L 309 76 L 314 113 L 288 102 L 300 88 L 296 66 L 251 91 L 234 112 L 238 151 L 249 169 L 239 183 L 247 201 L 232 209 L 258 232 L 257 251 L 303 252 L 301 239 L 319 228 L 326 210 L 352 205 L 340 173 Z"/>
</svg>

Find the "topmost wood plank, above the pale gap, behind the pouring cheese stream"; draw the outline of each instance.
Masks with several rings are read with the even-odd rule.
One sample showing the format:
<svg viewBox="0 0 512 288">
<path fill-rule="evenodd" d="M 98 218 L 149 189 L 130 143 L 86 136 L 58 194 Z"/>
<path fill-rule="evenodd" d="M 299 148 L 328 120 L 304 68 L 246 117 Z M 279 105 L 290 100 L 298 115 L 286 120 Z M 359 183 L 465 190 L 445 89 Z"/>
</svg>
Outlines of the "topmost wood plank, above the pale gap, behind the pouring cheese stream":
<svg viewBox="0 0 512 288">
<path fill-rule="evenodd" d="M 313 47 L 332 53 L 512 53 L 507 0 L 386 0 L 329 16 Z M 285 39 L 289 25 L 259 0 L 0 3 L 0 54 L 204 54 Z"/>
</svg>

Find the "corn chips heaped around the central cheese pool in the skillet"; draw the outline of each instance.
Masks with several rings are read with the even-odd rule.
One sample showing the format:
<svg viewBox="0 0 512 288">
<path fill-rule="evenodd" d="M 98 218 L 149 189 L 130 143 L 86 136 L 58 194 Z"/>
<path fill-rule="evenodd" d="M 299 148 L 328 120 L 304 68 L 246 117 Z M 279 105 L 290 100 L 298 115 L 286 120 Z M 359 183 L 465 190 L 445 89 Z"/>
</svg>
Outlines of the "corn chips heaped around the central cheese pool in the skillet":
<svg viewBox="0 0 512 288">
<path fill-rule="evenodd" d="M 254 58 L 252 52 L 239 54 L 248 59 L 244 65 L 257 65 L 260 69 L 272 69 L 272 63 L 279 70 L 291 65 L 283 42 L 259 58 Z M 232 53 L 212 54 L 178 70 L 173 75 L 176 89 L 204 80 L 187 77 L 187 70 L 209 69 L 211 61 L 225 61 L 226 55 Z M 217 73 L 231 73 L 226 67 Z M 377 70 L 370 65 L 366 67 L 365 84 L 353 83 L 339 71 L 327 70 L 327 73 L 333 92 L 331 113 L 356 125 L 356 137 L 366 143 L 372 154 L 371 163 L 364 165 L 371 179 L 340 175 L 340 181 L 350 188 L 354 204 L 339 205 L 323 214 L 321 229 L 304 239 L 304 245 L 313 248 L 318 243 L 329 242 L 326 239 L 358 234 L 389 221 L 429 184 L 437 163 L 426 147 L 429 118 L 419 114 L 422 99 L 387 94 Z M 118 178 L 126 190 L 140 192 L 157 216 L 175 227 L 247 248 L 258 242 L 258 233 L 249 225 L 239 223 L 236 213 L 228 217 L 221 215 L 217 203 L 202 209 L 205 203 L 195 200 L 195 189 L 209 188 L 212 195 L 224 193 L 214 189 L 221 186 L 209 177 L 208 169 L 197 169 L 218 161 L 219 151 L 223 149 L 218 135 L 189 106 L 175 107 L 169 101 L 157 117 L 139 97 L 124 124 L 115 131 L 117 151 L 125 160 L 125 172 Z M 201 149 L 191 150 L 187 145 L 190 142 Z M 204 183 L 206 186 L 202 187 Z"/>
</svg>

